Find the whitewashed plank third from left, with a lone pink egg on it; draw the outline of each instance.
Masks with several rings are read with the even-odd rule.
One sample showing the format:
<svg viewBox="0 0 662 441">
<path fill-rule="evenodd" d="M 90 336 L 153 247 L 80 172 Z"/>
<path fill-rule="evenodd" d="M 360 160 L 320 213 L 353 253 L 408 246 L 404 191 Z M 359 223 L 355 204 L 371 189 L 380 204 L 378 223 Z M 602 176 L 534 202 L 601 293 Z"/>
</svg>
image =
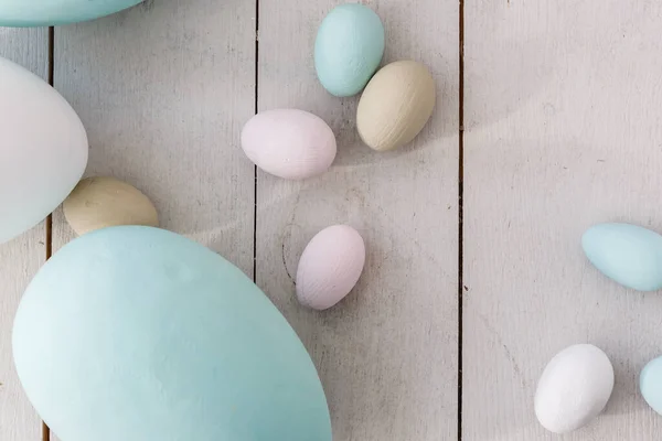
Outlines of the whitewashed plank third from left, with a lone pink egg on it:
<svg viewBox="0 0 662 441">
<path fill-rule="evenodd" d="M 303 182 L 259 173 L 257 282 L 312 354 L 335 440 L 456 439 L 458 3 L 366 2 L 385 21 L 386 61 L 429 65 L 440 97 L 415 146 L 386 154 L 359 140 L 357 100 L 331 97 L 314 74 L 317 28 L 338 3 L 260 0 L 259 109 L 321 116 L 339 154 Z M 366 268 L 345 301 L 313 313 L 297 303 L 290 275 L 307 241 L 338 223 L 364 236 Z"/>
</svg>

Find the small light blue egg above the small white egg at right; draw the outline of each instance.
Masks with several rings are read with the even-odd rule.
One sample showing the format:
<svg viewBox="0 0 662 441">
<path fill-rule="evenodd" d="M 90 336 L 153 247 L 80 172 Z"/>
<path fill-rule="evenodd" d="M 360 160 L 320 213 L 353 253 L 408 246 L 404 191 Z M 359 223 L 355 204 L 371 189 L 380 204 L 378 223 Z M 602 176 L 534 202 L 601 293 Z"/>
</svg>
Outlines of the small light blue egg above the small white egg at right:
<svg viewBox="0 0 662 441">
<path fill-rule="evenodd" d="M 605 276 L 638 291 L 662 288 L 662 236 L 630 224 L 599 224 L 581 237 L 586 256 Z"/>
</svg>

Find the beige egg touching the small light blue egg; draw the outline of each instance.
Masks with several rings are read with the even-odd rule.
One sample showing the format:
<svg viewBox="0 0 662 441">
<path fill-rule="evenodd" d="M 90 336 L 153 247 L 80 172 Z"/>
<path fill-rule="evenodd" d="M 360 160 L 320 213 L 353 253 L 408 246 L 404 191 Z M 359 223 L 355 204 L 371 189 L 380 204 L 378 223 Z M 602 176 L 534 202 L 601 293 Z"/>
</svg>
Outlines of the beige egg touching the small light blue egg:
<svg viewBox="0 0 662 441">
<path fill-rule="evenodd" d="M 363 142 L 378 151 L 409 143 L 435 109 L 435 80 L 426 66 L 413 61 L 391 63 L 370 80 L 356 111 Z"/>
</svg>

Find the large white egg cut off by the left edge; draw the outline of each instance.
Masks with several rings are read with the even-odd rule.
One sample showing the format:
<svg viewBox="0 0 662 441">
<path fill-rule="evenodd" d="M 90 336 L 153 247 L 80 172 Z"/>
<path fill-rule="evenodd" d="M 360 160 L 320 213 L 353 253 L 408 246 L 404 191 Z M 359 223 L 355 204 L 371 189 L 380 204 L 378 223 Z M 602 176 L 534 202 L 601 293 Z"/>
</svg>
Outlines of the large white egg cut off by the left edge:
<svg viewBox="0 0 662 441">
<path fill-rule="evenodd" d="M 47 83 L 0 58 L 0 244 L 64 201 L 87 165 L 87 136 Z"/>
</svg>

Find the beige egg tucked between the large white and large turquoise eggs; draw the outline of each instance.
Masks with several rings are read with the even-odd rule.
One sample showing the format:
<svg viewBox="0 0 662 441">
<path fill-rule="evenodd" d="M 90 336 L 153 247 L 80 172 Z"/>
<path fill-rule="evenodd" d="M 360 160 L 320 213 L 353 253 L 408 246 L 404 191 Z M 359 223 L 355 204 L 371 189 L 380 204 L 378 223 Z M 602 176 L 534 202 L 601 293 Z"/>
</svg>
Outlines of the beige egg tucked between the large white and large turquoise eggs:
<svg viewBox="0 0 662 441">
<path fill-rule="evenodd" d="M 115 178 L 88 178 L 64 201 L 66 222 L 78 236 L 117 225 L 159 226 L 159 216 L 145 194 Z"/>
</svg>

